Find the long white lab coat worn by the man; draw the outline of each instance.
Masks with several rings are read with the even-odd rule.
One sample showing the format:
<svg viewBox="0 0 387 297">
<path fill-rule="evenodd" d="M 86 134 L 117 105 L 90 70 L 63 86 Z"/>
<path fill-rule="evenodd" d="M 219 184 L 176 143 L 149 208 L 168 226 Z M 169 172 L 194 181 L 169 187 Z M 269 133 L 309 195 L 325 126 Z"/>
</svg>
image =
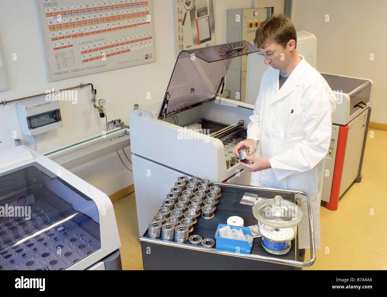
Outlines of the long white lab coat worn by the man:
<svg viewBox="0 0 387 297">
<path fill-rule="evenodd" d="M 329 149 L 337 99 L 320 73 L 300 57 L 302 60 L 281 89 L 279 70 L 269 68 L 262 77 L 247 138 L 255 140 L 255 157 L 269 159 L 272 168 L 252 172 L 250 183 L 309 193 L 316 248 L 320 249 L 324 157 Z M 304 219 L 298 225 L 300 249 L 310 248 L 306 199 L 301 203 Z"/>
</svg>

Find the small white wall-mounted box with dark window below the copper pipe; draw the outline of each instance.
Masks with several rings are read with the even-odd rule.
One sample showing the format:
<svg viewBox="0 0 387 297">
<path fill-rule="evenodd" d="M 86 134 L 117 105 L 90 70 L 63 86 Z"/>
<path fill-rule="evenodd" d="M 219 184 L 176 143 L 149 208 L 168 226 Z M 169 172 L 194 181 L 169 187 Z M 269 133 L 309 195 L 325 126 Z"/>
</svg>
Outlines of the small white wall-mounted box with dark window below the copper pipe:
<svg viewBox="0 0 387 297">
<path fill-rule="evenodd" d="M 23 134 L 34 136 L 62 127 L 59 102 L 45 97 L 33 98 L 16 104 Z"/>
</svg>

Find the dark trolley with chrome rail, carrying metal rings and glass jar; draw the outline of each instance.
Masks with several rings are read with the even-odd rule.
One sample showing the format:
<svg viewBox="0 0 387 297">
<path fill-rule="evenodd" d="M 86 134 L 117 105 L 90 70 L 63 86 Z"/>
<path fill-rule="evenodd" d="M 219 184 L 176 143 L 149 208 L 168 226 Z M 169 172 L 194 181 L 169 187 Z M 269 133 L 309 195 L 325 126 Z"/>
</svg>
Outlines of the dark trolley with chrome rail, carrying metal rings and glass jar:
<svg viewBox="0 0 387 297">
<path fill-rule="evenodd" d="M 269 189 L 254 186 L 241 186 L 227 183 L 213 183 L 221 188 L 221 197 L 216 205 L 215 217 L 205 219 L 197 217 L 194 230 L 189 235 L 200 235 L 215 239 L 219 224 L 225 224 L 227 218 L 238 215 L 243 218 L 245 226 L 257 224 L 252 207 L 240 204 L 245 192 L 256 194 L 262 198 L 273 198 L 281 195 L 285 200 L 295 203 L 295 199 L 303 196 L 302 192 L 281 189 Z M 161 204 L 161 201 L 160 201 Z M 151 220 L 151 218 L 150 218 Z M 251 253 L 243 254 L 237 251 L 222 251 L 219 249 L 196 246 L 189 243 L 163 241 L 148 236 L 145 232 L 140 237 L 142 261 L 145 270 L 294 270 L 295 266 L 310 266 L 312 262 L 298 262 L 298 237 L 292 240 L 291 249 L 284 255 L 267 253 L 261 245 L 261 238 L 254 238 Z M 295 262 L 297 261 L 297 262 Z"/>
</svg>

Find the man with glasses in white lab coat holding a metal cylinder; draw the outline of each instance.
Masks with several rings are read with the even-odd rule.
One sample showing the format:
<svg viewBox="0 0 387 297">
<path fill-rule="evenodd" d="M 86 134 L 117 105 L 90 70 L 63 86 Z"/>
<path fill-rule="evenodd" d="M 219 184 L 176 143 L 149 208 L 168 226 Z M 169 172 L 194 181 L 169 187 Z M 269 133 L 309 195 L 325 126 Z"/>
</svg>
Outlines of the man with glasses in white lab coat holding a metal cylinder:
<svg viewBox="0 0 387 297">
<path fill-rule="evenodd" d="M 265 71 L 247 140 L 238 150 L 248 149 L 251 185 L 305 191 L 312 201 L 316 248 L 320 248 L 320 201 L 324 157 L 332 133 L 336 97 L 317 70 L 296 51 L 296 29 L 284 15 L 265 20 L 257 29 L 254 44 L 259 48 Z M 301 201 L 304 220 L 298 226 L 300 258 L 310 247 L 307 202 Z"/>
</svg>

